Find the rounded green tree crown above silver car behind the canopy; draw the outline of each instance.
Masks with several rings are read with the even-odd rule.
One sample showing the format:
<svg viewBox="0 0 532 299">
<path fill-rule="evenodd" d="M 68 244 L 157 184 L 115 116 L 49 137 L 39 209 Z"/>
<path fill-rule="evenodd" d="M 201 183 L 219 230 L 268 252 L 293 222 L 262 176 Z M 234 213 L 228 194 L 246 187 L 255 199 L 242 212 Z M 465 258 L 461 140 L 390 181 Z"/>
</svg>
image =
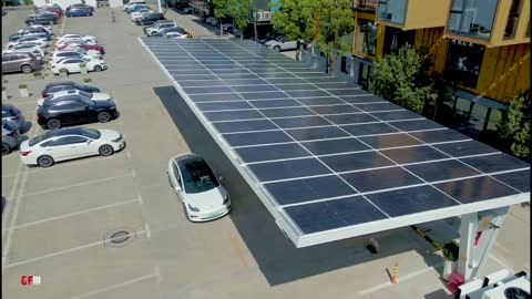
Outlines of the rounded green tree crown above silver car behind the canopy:
<svg viewBox="0 0 532 299">
<path fill-rule="evenodd" d="M 315 34 L 313 28 L 313 10 L 309 1 L 280 0 L 270 6 L 280 6 L 280 10 L 272 13 L 274 30 L 288 40 L 309 40 Z"/>
</svg>

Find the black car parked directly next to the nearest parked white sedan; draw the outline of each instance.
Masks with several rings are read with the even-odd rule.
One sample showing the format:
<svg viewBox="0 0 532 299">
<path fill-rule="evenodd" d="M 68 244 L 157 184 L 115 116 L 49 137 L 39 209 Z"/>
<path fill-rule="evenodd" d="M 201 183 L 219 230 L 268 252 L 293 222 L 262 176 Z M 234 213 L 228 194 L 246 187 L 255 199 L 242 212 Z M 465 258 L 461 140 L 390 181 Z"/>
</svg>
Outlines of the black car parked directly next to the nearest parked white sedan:
<svg viewBox="0 0 532 299">
<path fill-rule="evenodd" d="M 64 99 L 45 102 L 37 110 L 37 123 L 43 128 L 60 128 L 66 124 L 101 122 L 106 123 L 119 117 L 113 101 L 92 101 L 83 96 L 64 96 Z"/>
</svg>

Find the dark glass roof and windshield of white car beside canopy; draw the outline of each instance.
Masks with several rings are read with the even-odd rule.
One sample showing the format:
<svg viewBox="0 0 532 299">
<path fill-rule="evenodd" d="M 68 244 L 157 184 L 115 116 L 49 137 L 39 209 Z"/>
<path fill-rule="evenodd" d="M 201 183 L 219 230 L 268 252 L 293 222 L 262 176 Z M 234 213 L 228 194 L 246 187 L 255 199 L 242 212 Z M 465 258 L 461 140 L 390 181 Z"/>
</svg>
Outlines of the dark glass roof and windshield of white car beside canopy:
<svg viewBox="0 0 532 299">
<path fill-rule="evenodd" d="M 203 193 L 219 186 L 218 181 L 205 161 L 192 158 L 181 162 L 183 184 L 188 194 Z"/>
</svg>

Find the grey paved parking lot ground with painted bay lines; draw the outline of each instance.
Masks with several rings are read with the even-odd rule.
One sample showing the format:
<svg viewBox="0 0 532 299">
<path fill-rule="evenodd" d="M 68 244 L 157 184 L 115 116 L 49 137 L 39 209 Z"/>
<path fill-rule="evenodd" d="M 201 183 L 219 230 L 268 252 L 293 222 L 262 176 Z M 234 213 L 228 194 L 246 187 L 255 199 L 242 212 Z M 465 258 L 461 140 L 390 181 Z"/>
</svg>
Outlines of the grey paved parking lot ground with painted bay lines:
<svg viewBox="0 0 532 299">
<path fill-rule="evenodd" d="M 2 35 L 24 27 L 30 11 L 2 18 Z M 175 12 L 172 12 L 175 13 Z M 126 147 L 110 157 L 27 167 L 18 152 L 2 156 L 2 296 L 6 298 L 451 298 L 440 280 L 442 259 L 410 228 L 296 249 L 142 49 L 142 27 L 125 13 L 98 9 L 92 18 L 63 19 L 62 33 L 96 35 L 106 71 L 71 74 L 110 93 L 121 116 L 83 125 L 121 132 Z M 172 14 L 178 22 L 177 14 Z M 190 17 L 186 17 L 190 18 Z M 9 25 L 6 25 L 6 24 Z M 8 31 L 9 30 L 9 31 Z M 3 39 L 2 39 L 3 41 Z M 63 81 L 9 74 L 7 103 L 35 123 L 41 89 Z M 29 99 L 18 95 L 27 83 Z M 177 154 L 203 155 L 225 177 L 234 210 L 205 224 L 186 220 L 168 186 L 166 164 Z M 512 207 L 485 272 L 504 265 L 530 271 L 530 208 Z M 451 224 L 452 225 L 452 224 Z M 434 239 L 456 238 L 443 221 L 423 225 Z M 508 233 L 507 233 L 508 231 Z M 124 236 L 123 243 L 116 241 Z M 113 239 L 116 238 L 116 239 Z M 512 246 L 504 246 L 512 244 Z M 399 283 L 387 269 L 399 262 Z M 22 286 L 21 276 L 41 277 Z"/>
</svg>

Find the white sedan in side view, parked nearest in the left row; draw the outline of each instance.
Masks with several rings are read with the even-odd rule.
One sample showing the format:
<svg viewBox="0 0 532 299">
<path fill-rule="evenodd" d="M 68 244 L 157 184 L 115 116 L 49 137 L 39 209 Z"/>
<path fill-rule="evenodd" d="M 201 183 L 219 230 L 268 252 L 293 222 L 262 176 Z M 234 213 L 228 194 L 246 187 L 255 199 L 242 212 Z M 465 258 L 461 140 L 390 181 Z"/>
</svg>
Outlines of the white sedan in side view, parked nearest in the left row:
<svg viewBox="0 0 532 299">
<path fill-rule="evenodd" d="M 58 128 L 22 142 L 20 158 L 25 165 L 50 167 L 65 159 L 110 156 L 124 146 L 122 134 L 113 130 Z"/>
</svg>

